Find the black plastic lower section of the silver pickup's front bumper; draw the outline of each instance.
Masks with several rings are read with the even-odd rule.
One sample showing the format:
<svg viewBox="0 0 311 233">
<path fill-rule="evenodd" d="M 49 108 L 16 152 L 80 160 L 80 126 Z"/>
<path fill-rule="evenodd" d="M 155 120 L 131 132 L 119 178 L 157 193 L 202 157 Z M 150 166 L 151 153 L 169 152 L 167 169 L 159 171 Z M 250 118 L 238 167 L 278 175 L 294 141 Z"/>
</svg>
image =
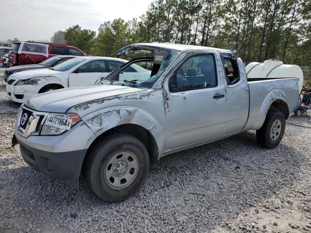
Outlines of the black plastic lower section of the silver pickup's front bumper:
<svg viewBox="0 0 311 233">
<path fill-rule="evenodd" d="M 35 170 L 52 179 L 62 180 L 74 188 L 79 187 L 79 177 L 86 149 L 48 152 L 29 147 L 20 141 L 18 143 L 24 161 L 34 167 Z"/>
</svg>

